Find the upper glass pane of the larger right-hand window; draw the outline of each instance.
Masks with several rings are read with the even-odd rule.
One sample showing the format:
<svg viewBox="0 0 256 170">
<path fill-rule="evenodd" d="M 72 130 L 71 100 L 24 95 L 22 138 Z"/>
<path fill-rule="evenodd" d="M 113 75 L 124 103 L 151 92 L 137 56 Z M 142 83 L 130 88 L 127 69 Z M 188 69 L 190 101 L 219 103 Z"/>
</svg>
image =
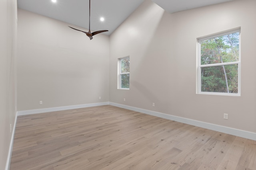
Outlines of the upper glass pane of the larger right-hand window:
<svg viewBox="0 0 256 170">
<path fill-rule="evenodd" d="M 201 64 L 239 61 L 239 32 L 201 41 Z"/>
</svg>

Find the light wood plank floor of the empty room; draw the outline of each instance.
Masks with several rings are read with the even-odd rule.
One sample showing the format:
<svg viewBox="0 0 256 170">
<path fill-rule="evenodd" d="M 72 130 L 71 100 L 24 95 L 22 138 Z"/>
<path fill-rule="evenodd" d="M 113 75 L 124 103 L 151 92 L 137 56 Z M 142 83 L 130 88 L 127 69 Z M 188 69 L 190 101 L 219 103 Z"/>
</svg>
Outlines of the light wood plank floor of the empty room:
<svg viewBox="0 0 256 170">
<path fill-rule="evenodd" d="M 256 170 L 256 141 L 87 107 L 19 116 L 10 170 Z"/>
</svg>

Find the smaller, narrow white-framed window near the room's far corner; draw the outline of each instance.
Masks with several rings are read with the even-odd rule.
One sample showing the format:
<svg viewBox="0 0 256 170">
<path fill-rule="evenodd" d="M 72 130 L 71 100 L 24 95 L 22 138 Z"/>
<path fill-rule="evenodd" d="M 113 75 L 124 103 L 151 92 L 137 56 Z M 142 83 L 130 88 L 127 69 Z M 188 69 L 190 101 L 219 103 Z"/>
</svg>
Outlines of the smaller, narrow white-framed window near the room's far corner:
<svg viewBox="0 0 256 170">
<path fill-rule="evenodd" d="M 119 59 L 118 88 L 129 89 L 130 86 L 130 57 Z"/>
</svg>

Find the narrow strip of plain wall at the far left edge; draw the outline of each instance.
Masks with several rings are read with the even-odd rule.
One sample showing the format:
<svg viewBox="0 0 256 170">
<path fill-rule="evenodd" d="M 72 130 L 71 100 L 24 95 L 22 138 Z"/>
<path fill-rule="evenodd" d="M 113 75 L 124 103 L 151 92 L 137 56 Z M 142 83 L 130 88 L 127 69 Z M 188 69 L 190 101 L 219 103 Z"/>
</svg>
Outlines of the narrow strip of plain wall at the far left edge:
<svg viewBox="0 0 256 170">
<path fill-rule="evenodd" d="M 17 2 L 0 1 L 0 169 L 8 166 L 8 151 L 16 116 Z M 11 127 L 10 127 L 11 125 Z M 11 131 L 10 131 L 11 130 Z M 7 163 L 7 165 L 6 165 Z"/>
</svg>

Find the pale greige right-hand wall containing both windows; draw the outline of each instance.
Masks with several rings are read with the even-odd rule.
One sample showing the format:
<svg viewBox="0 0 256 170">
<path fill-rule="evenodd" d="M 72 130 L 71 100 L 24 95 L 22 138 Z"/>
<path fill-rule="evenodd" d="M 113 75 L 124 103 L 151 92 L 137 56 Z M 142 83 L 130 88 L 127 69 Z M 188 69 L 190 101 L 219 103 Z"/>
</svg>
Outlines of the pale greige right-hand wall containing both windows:
<svg viewBox="0 0 256 170">
<path fill-rule="evenodd" d="M 110 102 L 255 133 L 255 7 L 255 0 L 236 0 L 168 14 L 145 0 L 110 36 Z M 241 96 L 196 94 L 197 38 L 236 27 Z M 127 55 L 130 90 L 118 90 L 117 60 Z"/>
</svg>

